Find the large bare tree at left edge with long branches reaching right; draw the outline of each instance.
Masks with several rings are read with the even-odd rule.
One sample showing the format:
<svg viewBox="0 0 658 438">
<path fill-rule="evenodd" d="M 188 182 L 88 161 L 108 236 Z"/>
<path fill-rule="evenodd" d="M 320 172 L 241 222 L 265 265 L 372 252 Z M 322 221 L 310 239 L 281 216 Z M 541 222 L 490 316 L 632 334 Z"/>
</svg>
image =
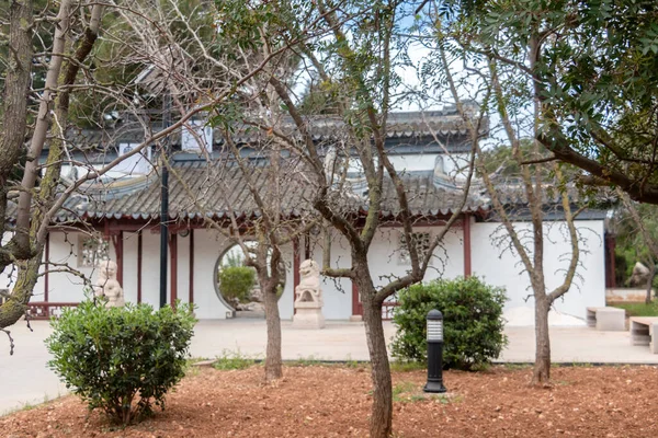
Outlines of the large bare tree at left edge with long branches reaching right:
<svg viewBox="0 0 658 438">
<path fill-rule="evenodd" d="M 215 25 L 212 19 L 200 23 L 194 18 L 205 15 L 194 8 L 182 11 L 178 2 L 86 5 L 64 0 L 57 5 L 57 16 L 52 16 L 52 5 L 44 9 L 45 16 L 35 14 L 33 3 L 11 1 L 8 8 L 0 227 L 11 238 L 0 247 L 0 270 L 18 268 L 18 274 L 9 299 L 0 306 L 0 328 L 25 313 L 49 227 L 68 199 L 92 183 L 105 184 L 120 163 L 145 155 L 151 145 L 162 150 L 168 136 L 196 114 L 230 102 L 236 90 L 271 60 L 261 58 L 250 71 L 234 68 L 228 42 L 215 47 L 214 58 L 203 57 L 200 35 L 211 41 Z M 101 22 L 106 28 L 101 30 Z M 194 74 L 191 60 L 198 57 L 212 65 L 213 70 L 204 70 L 212 76 Z M 43 88 L 32 80 L 38 76 L 35 66 L 41 65 L 47 66 Z M 147 68 L 154 83 L 174 83 L 177 74 L 193 78 L 183 82 L 184 89 L 172 90 L 177 122 L 169 126 L 159 111 L 162 89 L 148 90 L 140 81 Z M 83 128 L 90 127 L 102 131 L 103 145 L 87 141 Z M 141 132 L 143 141 L 118 155 L 114 145 L 125 131 Z M 39 161 L 46 151 L 45 162 Z M 81 170 L 81 176 L 63 180 L 63 166 Z M 84 221 L 76 222 L 81 227 Z"/>
</svg>

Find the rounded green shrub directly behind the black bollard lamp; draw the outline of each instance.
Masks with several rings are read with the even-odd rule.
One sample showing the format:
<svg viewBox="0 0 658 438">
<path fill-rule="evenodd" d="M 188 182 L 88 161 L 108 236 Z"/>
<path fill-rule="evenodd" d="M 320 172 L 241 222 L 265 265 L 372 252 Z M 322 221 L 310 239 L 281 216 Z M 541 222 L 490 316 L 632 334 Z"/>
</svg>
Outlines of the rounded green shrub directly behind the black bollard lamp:
<svg viewBox="0 0 658 438">
<path fill-rule="evenodd" d="M 477 277 L 434 280 L 401 290 L 393 319 L 397 325 L 393 356 L 398 360 L 427 360 L 426 320 L 431 309 L 438 309 L 443 313 L 443 366 L 481 368 L 507 344 L 502 333 L 504 301 L 504 289 Z"/>
</svg>

